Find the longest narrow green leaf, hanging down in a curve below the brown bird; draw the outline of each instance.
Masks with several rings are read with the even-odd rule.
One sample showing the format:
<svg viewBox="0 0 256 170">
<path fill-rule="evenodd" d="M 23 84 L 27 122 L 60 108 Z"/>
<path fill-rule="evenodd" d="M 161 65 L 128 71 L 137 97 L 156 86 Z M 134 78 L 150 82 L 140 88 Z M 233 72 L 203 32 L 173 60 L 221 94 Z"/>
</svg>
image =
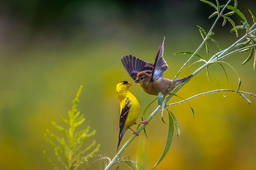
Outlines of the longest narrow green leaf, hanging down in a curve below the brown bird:
<svg viewBox="0 0 256 170">
<path fill-rule="evenodd" d="M 163 149 L 163 153 L 154 167 L 156 167 L 163 160 L 163 158 L 165 157 L 166 153 L 168 152 L 172 144 L 174 125 L 173 125 L 173 119 L 171 114 L 169 113 L 168 115 L 169 115 L 169 128 L 168 128 L 168 135 L 165 143 L 165 148 Z"/>
</svg>

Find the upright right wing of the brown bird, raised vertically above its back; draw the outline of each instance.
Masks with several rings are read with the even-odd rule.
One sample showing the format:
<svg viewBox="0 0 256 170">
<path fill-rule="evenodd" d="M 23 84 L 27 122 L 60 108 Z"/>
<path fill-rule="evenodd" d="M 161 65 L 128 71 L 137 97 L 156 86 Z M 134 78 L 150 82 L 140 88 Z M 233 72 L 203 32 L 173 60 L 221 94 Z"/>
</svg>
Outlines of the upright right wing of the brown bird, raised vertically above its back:
<svg viewBox="0 0 256 170">
<path fill-rule="evenodd" d="M 168 65 L 163 59 L 163 43 L 165 41 L 165 37 L 163 37 L 163 41 L 160 44 L 159 50 L 157 52 L 157 57 L 155 58 L 155 63 L 152 70 L 152 78 L 153 82 L 161 78 L 163 75 L 162 73 L 168 68 Z"/>
</svg>

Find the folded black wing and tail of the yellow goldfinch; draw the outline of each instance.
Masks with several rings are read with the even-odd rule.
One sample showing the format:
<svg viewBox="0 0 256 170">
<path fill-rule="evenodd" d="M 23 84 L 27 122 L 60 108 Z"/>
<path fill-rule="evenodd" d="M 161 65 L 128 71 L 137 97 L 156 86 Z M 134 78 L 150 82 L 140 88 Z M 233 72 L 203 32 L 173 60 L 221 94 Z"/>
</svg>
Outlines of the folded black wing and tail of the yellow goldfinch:
<svg viewBox="0 0 256 170">
<path fill-rule="evenodd" d="M 123 130 L 123 127 L 124 127 L 124 123 L 127 119 L 128 113 L 130 111 L 130 107 L 131 107 L 130 100 L 129 100 L 129 98 L 126 98 L 125 106 L 121 111 L 120 119 L 119 119 L 119 128 L 120 128 L 120 130 L 119 130 L 119 136 L 118 136 L 117 151 L 118 151 L 118 147 L 119 147 L 120 142 L 121 142 L 121 140 L 124 136 L 124 133 L 125 133 L 125 130 Z"/>
</svg>

